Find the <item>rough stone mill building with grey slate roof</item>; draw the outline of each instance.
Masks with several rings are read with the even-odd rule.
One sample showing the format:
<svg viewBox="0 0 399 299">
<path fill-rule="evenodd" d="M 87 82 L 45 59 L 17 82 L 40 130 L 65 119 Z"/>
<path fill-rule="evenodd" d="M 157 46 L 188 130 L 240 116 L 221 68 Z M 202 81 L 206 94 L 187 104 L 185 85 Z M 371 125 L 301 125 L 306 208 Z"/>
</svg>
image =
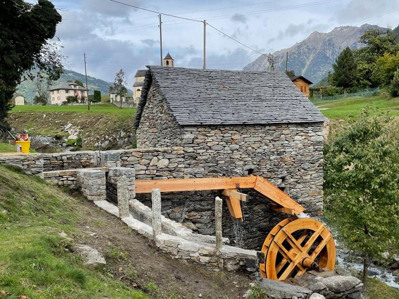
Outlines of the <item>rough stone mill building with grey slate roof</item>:
<svg viewBox="0 0 399 299">
<path fill-rule="evenodd" d="M 324 121 L 284 73 L 148 66 L 134 126 L 138 147 L 182 147 L 185 178 L 259 175 L 315 215 L 322 211 Z M 256 191 L 242 192 L 250 195 L 241 203 L 244 221 L 235 223 L 225 207 L 223 234 L 259 249 L 287 215 Z M 215 196 L 166 194 L 162 209 L 213 234 Z"/>
</svg>

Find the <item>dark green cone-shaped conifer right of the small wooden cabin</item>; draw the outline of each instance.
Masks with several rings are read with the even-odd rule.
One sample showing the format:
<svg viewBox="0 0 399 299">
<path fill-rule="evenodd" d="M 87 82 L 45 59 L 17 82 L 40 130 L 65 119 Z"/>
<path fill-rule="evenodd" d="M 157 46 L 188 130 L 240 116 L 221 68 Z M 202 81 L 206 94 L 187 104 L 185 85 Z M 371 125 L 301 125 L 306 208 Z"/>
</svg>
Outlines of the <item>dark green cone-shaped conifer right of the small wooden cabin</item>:
<svg viewBox="0 0 399 299">
<path fill-rule="evenodd" d="M 344 88 L 346 96 L 346 89 L 354 87 L 357 81 L 357 64 L 352 50 L 346 47 L 337 57 L 336 63 L 333 64 L 334 73 L 331 74 L 331 79 L 337 87 Z"/>
</svg>

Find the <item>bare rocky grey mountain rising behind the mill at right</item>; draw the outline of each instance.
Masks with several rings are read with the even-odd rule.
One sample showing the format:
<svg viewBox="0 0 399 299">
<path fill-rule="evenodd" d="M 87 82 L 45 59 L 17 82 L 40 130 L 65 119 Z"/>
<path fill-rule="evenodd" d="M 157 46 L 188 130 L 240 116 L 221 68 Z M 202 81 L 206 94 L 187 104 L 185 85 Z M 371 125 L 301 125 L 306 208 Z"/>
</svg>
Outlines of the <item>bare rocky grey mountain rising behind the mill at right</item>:
<svg viewBox="0 0 399 299">
<path fill-rule="evenodd" d="M 292 47 L 274 52 L 275 66 L 280 70 L 285 69 L 286 53 L 288 52 L 288 69 L 293 69 L 295 74 L 301 74 L 313 83 L 317 83 L 327 76 L 328 71 L 333 68 L 335 59 L 343 49 L 347 46 L 351 49 L 364 46 L 358 40 L 366 30 L 371 28 L 386 30 L 377 25 L 364 24 L 360 27 L 336 27 L 327 33 L 315 31 Z M 253 62 L 247 64 L 243 70 L 266 70 L 267 67 L 267 57 L 260 55 Z"/>
</svg>

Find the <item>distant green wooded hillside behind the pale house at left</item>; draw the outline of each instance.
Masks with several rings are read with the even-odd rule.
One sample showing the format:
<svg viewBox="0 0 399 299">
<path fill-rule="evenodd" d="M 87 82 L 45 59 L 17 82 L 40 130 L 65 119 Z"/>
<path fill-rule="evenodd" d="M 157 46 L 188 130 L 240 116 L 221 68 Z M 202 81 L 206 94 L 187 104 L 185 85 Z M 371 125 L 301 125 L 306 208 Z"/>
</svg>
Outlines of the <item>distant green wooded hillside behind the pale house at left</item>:
<svg viewBox="0 0 399 299">
<path fill-rule="evenodd" d="M 67 81 L 74 82 L 75 80 L 80 80 L 83 83 L 86 82 L 84 74 L 73 71 L 73 70 L 64 69 L 64 72 L 61 74 L 61 77 L 57 81 L 53 81 L 51 84 L 53 86 L 55 86 L 60 83 L 65 83 Z M 111 85 L 113 85 L 113 83 L 87 76 L 87 86 L 89 88 L 90 95 L 93 94 L 95 89 L 101 91 L 101 94 L 108 94 L 109 93 L 108 88 Z M 129 94 L 133 93 L 130 89 L 128 89 L 127 92 Z M 32 80 L 26 80 L 26 81 L 22 82 L 18 86 L 17 93 L 22 94 L 25 97 L 25 100 L 27 102 L 30 102 L 30 103 L 33 102 L 33 98 L 36 94 L 35 82 Z"/>
</svg>

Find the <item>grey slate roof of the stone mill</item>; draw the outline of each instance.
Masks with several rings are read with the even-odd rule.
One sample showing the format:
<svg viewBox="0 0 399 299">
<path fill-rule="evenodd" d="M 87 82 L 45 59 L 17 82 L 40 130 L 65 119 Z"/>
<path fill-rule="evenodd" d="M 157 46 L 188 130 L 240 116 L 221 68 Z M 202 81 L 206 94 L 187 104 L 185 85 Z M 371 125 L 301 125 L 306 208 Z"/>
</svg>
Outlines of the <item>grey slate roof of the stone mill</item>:
<svg viewBox="0 0 399 299">
<path fill-rule="evenodd" d="M 322 122 L 326 118 L 277 71 L 147 66 L 135 128 L 152 83 L 180 125 Z"/>
</svg>

